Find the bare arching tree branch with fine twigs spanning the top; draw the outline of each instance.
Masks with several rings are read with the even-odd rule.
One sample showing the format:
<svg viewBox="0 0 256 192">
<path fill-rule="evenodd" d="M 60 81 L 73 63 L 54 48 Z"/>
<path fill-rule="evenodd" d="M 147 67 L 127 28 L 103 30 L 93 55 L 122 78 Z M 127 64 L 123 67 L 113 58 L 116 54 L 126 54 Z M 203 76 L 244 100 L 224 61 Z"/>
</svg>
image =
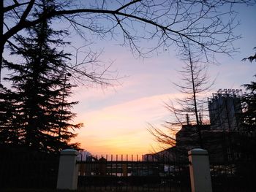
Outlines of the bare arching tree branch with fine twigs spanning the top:
<svg viewBox="0 0 256 192">
<path fill-rule="evenodd" d="M 173 45 L 183 52 L 186 50 L 184 42 L 189 42 L 191 49 L 203 52 L 209 61 L 215 53 L 229 55 L 235 50 L 232 43 L 240 37 L 233 34 L 236 27 L 233 5 L 254 5 L 255 0 L 48 0 L 48 4 L 48 8 L 42 10 L 39 0 L 4 1 L 0 10 L 0 27 L 3 29 L 0 31 L 0 55 L 7 40 L 15 34 L 50 19 L 68 20 L 78 34 L 84 34 L 83 37 L 88 32 L 102 38 L 108 34 L 113 38 L 122 34 L 124 44 L 143 56 L 159 47 Z M 4 14 L 5 17 L 1 17 Z M 226 15 L 230 19 L 225 19 Z M 145 49 L 143 45 L 148 42 L 154 42 L 154 45 Z"/>
</svg>

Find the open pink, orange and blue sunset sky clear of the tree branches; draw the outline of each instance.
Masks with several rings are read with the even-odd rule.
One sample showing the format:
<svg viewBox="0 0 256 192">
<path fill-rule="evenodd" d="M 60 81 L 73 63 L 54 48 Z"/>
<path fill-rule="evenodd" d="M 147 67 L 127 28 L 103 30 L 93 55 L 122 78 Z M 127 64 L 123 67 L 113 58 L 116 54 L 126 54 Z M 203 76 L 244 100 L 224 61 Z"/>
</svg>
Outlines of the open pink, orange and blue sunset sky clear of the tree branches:
<svg viewBox="0 0 256 192">
<path fill-rule="evenodd" d="M 235 42 L 240 52 L 233 58 L 218 55 L 221 65 L 209 66 L 208 73 L 216 83 L 211 93 L 219 88 L 241 88 L 254 80 L 255 64 L 241 59 L 254 54 L 256 47 L 256 7 L 239 7 L 241 25 L 236 34 L 242 39 Z M 118 70 L 121 85 L 115 87 L 75 90 L 72 100 L 80 101 L 75 107 L 77 122 L 84 127 L 76 141 L 94 154 L 145 154 L 159 150 L 154 137 L 148 133 L 148 123 L 159 126 L 170 118 L 164 102 L 180 96 L 172 82 L 180 82 L 176 70 L 183 63 L 173 50 L 151 58 L 136 59 L 127 47 L 118 42 L 97 44 L 104 48 L 102 61 L 114 61 L 111 69 Z M 211 96 L 211 93 L 208 96 Z"/>
</svg>

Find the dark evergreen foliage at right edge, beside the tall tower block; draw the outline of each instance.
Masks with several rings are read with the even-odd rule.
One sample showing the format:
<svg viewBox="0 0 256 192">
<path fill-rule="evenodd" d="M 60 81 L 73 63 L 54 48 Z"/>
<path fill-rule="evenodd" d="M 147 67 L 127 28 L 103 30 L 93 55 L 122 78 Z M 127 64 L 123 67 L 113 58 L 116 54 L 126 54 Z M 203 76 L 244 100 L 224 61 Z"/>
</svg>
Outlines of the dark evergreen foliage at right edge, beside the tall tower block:
<svg viewBox="0 0 256 192">
<path fill-rule="evenodd" d="M 243 112 L 239 117 L 241 119 L 239 138 L 232 147 L 239 154 L 236 174 L 246 178 L 246 184 L 248 184 L 248 181 L 253 183 L 252 178 L 255 178 L 256 168 L 254 163 L 256 159 L 256 82 L 244 84 L 244 88 L 246 88 L 246 94 L 241 99 Z"/>
</svg>

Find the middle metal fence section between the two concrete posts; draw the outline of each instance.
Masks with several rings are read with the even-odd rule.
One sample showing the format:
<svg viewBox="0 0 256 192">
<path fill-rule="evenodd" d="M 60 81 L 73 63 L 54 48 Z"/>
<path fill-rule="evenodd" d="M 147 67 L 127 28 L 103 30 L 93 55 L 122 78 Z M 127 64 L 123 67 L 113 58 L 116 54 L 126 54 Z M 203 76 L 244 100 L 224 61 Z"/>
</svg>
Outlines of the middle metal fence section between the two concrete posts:
<svg viewBox="0 0 256 192">
<path fill-rule="evenodd" d="M 190 191 L 188 162 L 110 155 L 78 161 L 78 172 L 78 188 L 85 191 Z"/>
</svg>

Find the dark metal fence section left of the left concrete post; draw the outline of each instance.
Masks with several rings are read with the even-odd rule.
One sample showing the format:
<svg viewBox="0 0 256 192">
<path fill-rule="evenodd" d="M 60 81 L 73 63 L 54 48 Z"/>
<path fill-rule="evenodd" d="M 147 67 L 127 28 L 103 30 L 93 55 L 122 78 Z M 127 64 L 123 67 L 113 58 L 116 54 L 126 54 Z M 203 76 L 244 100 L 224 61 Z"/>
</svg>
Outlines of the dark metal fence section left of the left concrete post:
<svg viewBox="0 0 256 192">
<path fill-rule="evenodd" d="M 0 150 L 1 188 L 56 188 L 59 155 Z"/>
</svg>

